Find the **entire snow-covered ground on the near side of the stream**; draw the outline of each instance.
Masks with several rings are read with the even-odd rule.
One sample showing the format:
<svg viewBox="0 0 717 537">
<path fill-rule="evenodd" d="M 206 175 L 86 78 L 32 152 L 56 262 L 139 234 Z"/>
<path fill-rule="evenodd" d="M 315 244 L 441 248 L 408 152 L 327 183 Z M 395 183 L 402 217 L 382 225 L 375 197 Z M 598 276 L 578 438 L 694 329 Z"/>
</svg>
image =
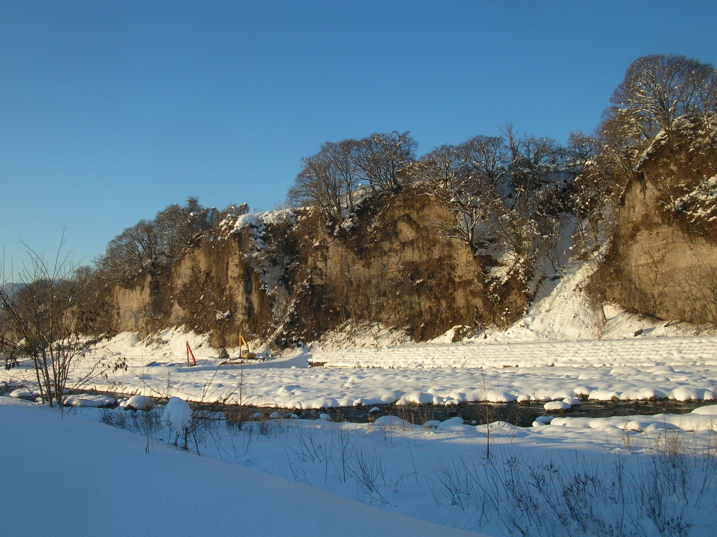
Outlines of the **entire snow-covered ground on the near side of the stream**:
<svg viewBox="0 0 717 537">
<path fill-rule="evenodd" d="M 165 419 L 176 409 L 154 410 L 148 428 L 141 411 L 72 408 L 60 419 L 8 401 L 0 398 L 8 535 L 462 534 L 427 522 L 496 537 L 717 530 L 717 406 L 529 428 L 394 416 L 264 416 L 239 427 L 195 413 L 202 425 L 184 453 Z M 57 492 L 37 502 L 40 485 Z"/>
</svg>

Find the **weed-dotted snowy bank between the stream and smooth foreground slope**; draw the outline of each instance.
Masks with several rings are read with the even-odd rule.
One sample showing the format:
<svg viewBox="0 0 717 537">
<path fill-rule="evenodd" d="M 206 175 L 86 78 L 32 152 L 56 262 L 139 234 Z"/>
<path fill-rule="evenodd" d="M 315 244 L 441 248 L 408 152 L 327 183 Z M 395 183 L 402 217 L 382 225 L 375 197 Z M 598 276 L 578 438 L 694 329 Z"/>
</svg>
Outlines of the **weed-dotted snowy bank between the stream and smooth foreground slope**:
<svg viewBox="0 0 717 537">
<path fill-rule="evenodd" d="M 133 414 L 76 411 L 124 426 L 120 416 Z M 211 442 L 199 443 L 202 454 L 226 462 L 493 536 L 714 537 L 716 411 L 559 417 L 527 428 L 457 416 L 425 426 L 397 416 L 364 424 L 260 419 L 219 424 Z M 166 429 L 155 435 L 172 442 Z M 376 472 L 357 472 L 359 464 Z"/>
</svg>

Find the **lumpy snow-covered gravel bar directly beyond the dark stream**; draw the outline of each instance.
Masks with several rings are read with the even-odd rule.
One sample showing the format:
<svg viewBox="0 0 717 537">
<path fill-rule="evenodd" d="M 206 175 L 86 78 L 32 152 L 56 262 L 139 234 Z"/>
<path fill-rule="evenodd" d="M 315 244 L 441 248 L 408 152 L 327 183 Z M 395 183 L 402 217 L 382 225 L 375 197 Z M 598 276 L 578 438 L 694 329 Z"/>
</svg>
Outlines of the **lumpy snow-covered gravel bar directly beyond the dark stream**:
<svg viewBox="0 0 717 537">
<path fill-rule="evenodd" d="M 295 362 L 296 360 L 292 360 Z M 263 365 L 263 364 L 262 364 Z M 267 364 L 269 365 L 269 364 Z M 272 364 L 280 365 L 280 363 Z M 717 366 L 672 368 L 281 368 L 257 365 L 133 366 L 114 382 L 95 381 L 105 391 L 177 395 L 192 401 L 238 402 L 242 382 L 244 404 L 281 408 L 322 408 L 379 403 L 457 404 L 465 401 L 551 401 L 583 396 L 609 401 L 675 398 L 712 401 L 717 398 Z"/>
</svg>

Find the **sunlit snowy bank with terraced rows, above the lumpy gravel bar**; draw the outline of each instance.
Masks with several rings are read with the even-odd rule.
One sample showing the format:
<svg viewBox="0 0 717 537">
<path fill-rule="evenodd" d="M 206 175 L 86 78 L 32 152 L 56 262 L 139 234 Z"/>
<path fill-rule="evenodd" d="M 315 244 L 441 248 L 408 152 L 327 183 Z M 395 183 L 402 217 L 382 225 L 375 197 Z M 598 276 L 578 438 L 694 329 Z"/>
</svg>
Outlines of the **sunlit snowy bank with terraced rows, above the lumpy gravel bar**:
<svg viewBox="0 0 717 537">
<path fill-rule="evenodd" d="M 346 368 L 717 365 L 717 336 L 404 345 L 316 352 L 310 361 Z"/>
</svg>

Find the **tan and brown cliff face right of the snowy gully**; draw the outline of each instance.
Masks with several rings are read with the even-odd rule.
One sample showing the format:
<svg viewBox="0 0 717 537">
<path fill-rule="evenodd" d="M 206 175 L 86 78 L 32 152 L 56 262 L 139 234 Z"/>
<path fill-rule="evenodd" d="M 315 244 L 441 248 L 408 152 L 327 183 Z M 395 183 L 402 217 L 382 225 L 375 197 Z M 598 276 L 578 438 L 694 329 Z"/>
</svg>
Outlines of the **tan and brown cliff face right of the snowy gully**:
<svg viewBox="0 0 717 537">
<path fill-rule="evenodd" d="M 660 319 L 717 324 L 717 129 L 660 135 L 627 184 L 606 266 L 607 299 Z"/>
</svg>

